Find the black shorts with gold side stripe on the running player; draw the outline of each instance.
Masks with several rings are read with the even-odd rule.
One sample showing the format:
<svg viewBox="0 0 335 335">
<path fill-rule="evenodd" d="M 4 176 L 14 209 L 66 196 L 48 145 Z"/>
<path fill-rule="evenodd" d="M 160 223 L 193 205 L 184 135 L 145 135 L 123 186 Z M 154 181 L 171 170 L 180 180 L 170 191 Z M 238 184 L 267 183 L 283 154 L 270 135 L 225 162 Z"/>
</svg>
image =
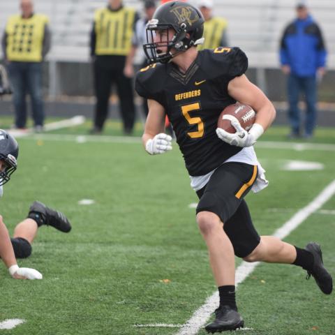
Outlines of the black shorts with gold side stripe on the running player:
<svg viewBox="0 0 335 335">
<path fill-rule="evenodd" d="M 260 235 L 244 201 L 258 174 L 257 165 L 224 163 L 211 175 L 209 182 L 197 191 L 200 211 L 211 211 L 223 222 L 223 229 L 230 238 L 234 253 L 246 257 L 260 243 Z"/>
</svg>

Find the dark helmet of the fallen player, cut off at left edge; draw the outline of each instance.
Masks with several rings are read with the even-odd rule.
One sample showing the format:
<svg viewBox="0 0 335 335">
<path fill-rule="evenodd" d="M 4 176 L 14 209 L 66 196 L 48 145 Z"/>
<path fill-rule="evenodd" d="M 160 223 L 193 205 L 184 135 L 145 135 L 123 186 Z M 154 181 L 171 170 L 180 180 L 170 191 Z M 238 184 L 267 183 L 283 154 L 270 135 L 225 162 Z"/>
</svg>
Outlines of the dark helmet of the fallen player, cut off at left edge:
<svg viewBox="0 0 335 335">
<path fill-rule="evenodd" d="M 0 129 L 0 159 L 5 163 L 5 168 L 0 171 L 0 186 L 6 184 L 10 175 L 16 170 L 17 156 L 19 156 L 19 146 L 15 138 Z"/>
</svg>

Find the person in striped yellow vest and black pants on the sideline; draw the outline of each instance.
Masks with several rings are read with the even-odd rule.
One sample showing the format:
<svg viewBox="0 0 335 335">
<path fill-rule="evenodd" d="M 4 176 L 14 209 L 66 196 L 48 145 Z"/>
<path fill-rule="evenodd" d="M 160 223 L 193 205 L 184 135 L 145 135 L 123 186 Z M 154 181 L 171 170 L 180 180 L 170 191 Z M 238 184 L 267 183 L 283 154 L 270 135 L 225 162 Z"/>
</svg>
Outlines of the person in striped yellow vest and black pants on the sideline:
<svg viewBox="0 0 335 335">
<path fill-rule="evenodd" d="M 91 30 L 91 57 L 94 62 L 96 109 L 92 134 L 99 134 L 108 115 L 112 84 L 117 85 L 124 133 L 131 134 L 135 121 L 133 82 L 124 74 L 126 56 L 131 50 L 131 38 L 138 15 L 124 7 L 121 0 L 109 0 L 106 8 L 96 10 Z"/>
</svg>

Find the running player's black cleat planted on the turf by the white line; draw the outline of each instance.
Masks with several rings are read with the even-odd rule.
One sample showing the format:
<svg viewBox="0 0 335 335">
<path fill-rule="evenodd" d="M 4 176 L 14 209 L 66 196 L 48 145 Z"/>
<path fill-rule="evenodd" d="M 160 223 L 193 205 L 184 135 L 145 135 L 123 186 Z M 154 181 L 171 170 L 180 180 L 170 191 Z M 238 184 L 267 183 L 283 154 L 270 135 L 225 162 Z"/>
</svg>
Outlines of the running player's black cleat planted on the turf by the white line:
<svg viewBox="0 0 335 335">
<path fill-rule="evenodd" d="M 209 333 L 221 333 L 244 326 L 244 320 L 241 315 L 228 305 L 219 306 L 215 311 L 215 315 L 215 320 L 204 327 Z"/>
</svg>

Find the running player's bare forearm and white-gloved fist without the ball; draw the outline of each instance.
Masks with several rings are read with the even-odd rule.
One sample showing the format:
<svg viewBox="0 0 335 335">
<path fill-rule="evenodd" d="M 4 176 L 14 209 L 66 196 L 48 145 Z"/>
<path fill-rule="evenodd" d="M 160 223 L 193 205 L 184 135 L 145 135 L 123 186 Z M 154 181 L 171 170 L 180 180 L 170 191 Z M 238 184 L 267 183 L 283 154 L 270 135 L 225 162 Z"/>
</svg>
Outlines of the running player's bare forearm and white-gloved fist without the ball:
<svg viewBox="0 0 335 335">
<path fill-rule="evenodd" d="M 148 107 L 149 114 L 142 135 L 144 148 L 151 155 L 164 154 L 172 149 L 172 137 L 164 133 L 165 109 L 152 99 L 148 99 Z"/>
</svg>

